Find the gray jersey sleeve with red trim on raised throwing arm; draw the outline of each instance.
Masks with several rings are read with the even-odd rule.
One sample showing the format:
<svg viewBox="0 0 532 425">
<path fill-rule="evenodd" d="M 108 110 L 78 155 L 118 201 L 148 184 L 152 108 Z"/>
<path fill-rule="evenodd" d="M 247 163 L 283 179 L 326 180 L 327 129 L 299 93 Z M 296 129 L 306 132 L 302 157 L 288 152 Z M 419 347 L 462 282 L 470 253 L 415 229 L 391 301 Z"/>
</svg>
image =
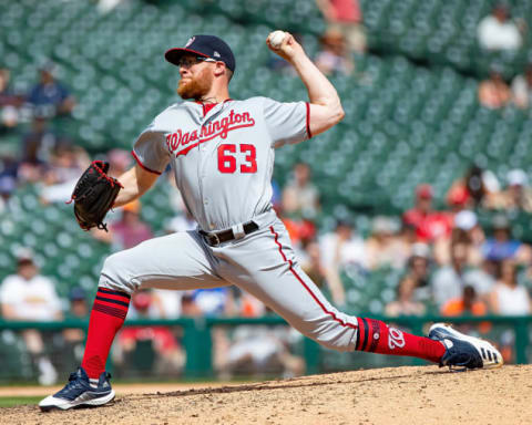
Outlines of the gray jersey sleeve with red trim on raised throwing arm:
<svg viewBox="0 0 532 425">
<path fill-rule="evenodd" d="M 283 103 L 264 99 L 264 120 L 273 146 L 280 147 L 310 138 L 310 106 L 307 102 Z"/>
</svg>

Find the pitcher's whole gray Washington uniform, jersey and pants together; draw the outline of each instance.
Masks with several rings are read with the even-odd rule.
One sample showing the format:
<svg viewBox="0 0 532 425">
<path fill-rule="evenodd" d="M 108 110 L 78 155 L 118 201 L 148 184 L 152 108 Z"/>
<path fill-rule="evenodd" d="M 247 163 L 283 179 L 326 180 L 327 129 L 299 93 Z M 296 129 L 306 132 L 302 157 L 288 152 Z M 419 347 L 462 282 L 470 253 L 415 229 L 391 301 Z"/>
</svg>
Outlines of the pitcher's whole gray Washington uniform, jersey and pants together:
<svg viewBox="0 0 532 425">
<path fill-rule="evenodd" d="M 352 351 L 357 319 L 335 309 L 305 274 L 270 204 L 274 148 L 309 136 L 304 102 L 253 97 L 212 108 L 194 102 L 170 106 L 139 136 L 133 155 L 156 174 L 172 165 L 203 230 L 232 228 L 238 237 L 216 247 L 198 230 L 146 240 L 110 256 L 100 286 L 131 293 L 236 284 L 305 335 Z M 245 235 L 249 220 L 258 230 Z"/>
</svg>

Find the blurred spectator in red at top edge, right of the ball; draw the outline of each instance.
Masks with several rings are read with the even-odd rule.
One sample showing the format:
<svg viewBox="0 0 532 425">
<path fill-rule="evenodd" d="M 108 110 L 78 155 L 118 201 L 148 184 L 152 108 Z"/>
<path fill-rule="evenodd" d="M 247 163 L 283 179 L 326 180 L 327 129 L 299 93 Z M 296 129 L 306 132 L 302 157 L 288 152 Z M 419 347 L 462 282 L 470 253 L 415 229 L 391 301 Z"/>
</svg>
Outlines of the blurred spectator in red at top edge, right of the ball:
<svg viewBox="0 0 532 425">
<path fill-rule="evenodd" d="M 358 0 L 316 0 L 330 30 L 344 35 L 350 51 L 366 50 L 366 32 L 362 25 L 362 10 Z"/>
</svg>

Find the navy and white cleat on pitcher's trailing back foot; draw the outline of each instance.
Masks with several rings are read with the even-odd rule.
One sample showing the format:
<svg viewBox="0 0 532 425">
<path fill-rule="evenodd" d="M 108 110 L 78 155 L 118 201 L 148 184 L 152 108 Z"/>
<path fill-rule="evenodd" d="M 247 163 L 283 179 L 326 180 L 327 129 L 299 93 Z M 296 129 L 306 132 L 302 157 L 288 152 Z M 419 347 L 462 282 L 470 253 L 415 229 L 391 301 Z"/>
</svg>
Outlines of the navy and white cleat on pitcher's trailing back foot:
<svg viewBox="0 0 532 425">
<path fill-rule="evenodd" d="M 488 341 L 464 335 L 448 324 L 436 323 L 430 326 L 429 338 L 441 341 L 447 349 L 440 367 L 493 369 L 503 364 L 501 353 Z"/>
</svg>

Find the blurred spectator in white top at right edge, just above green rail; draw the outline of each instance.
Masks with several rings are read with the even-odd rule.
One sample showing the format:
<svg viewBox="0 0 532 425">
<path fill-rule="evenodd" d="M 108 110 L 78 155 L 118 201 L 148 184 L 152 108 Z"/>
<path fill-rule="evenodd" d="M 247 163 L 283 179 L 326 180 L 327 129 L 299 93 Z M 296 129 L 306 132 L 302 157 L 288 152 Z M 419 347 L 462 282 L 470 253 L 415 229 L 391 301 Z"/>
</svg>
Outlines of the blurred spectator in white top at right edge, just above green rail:
<svg viewBox="0 0 532 425">
<path fill-rule="evenodd" d="M 518 268 L 512 260 L 502 260 L 497 284 L 490 297 L 491 310 L 497 314 L 521 315 L 532 312 L 526 288 L 518 282 Z"/>
</svg>

